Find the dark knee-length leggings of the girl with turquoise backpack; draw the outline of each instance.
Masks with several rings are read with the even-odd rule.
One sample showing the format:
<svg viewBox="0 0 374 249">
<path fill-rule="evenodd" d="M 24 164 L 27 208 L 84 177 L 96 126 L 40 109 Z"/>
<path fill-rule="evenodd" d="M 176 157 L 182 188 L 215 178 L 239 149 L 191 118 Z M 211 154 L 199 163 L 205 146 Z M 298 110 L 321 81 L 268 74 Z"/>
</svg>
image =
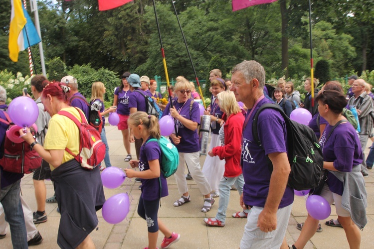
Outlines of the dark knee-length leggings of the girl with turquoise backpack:
<svg viewBox="0 0 374 249">
<path fill-rule="evenodd" d="M 138 215 L 147 221 L 148 232 L 156 233 L 159 231 L 159 223 L 157 222 L 157 214 L 159 212 L 160 199 L 154 201 L 146 201 L 140 197 L 138 205 Z"/>
</svg>

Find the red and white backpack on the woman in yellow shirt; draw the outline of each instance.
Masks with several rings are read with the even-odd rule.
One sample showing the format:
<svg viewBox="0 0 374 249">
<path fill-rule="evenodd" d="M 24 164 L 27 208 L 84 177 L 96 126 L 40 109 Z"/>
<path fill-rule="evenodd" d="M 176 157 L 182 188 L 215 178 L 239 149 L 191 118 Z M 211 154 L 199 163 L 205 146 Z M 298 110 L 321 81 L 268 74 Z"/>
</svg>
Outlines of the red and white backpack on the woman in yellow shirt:
<svg viewBox="0 0 374 249">
<path fill-rule="evenodd" d="M 99 131 L 92 125 L 87 124 L 83 112 L 78 108 L 75 109 L 77 109 L 80 114 L 82 122 L 79 122 L 77 118 L 66 111 L 60 111 L 57 113 L 71 119 L 78 126 L 80 133 L 79 153 L 74 155 L 70 149 L 65 148 L 65 150 L 73 155 L 83 168 L 92 170 L 104 160 L 105 144 L 101 141 Z"/>
</svg>

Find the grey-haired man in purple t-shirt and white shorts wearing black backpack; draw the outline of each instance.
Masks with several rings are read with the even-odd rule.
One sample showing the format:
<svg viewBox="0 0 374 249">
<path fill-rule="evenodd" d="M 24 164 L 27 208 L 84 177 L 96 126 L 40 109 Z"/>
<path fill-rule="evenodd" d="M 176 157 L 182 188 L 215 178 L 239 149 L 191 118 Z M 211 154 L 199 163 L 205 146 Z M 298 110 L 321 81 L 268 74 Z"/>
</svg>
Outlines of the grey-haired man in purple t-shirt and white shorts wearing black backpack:
<svg viewBox="0 0 374 249">
<path fill-rule="evenodd" d="M 280 248 L 294 200 L 287 186 L 291 167 L 287 158 L 287 130 L 278 111 L 265 109 L 258 116 L 260 148 L 252 135 L 252 123 L 264 98 L 265 70 L 256 61 L 243 61 L 232 70 L 231 91 L 248 108 L 243 126 L 241 166 L 244 176 L 240 204 L 251 208 L 240 249 Z M 273 171 L 270 172 L 268 159 Z"/>
</svg>

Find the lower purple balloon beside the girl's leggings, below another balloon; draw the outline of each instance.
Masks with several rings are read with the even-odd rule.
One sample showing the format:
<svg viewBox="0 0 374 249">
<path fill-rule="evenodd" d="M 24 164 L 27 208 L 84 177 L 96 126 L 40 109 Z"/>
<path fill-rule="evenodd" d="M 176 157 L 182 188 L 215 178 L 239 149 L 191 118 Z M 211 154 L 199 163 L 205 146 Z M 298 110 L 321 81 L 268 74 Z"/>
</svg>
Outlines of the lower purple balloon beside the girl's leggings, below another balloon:
<svg viewBox="0 0 374 249">
<path fill-rule="evenodd" d="M 110 224 L 117 224 L 126 218 L 129 211 L 129 196 L 126 193 L 121 193 L 106 200 L 101 213 L 106 222 Z"/>
</svg>

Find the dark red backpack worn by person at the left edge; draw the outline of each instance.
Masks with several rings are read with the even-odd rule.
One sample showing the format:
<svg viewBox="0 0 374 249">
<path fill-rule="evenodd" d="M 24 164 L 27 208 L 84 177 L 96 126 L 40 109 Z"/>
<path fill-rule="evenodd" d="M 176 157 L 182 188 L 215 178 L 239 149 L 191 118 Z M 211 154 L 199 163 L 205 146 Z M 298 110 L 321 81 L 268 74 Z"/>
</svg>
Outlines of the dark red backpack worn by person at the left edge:
<svg viewBox="0 0 374 249">
<path fill-rule="evenodd" d="M 0 122 L 8 124 L 10 128 L 14 124 L 6 112 L 3 112 L 3 114 L 6 120 L 0 118 Z M 32 134 L 35 135 L 35 132 Z M 14 143 L 5 134 L 3 147 L 4 153 L 0 159 L 0 165 L 5 171 L 29 174 L 41 166 L 42 158 L 27 142 Z"/>
</svg>

